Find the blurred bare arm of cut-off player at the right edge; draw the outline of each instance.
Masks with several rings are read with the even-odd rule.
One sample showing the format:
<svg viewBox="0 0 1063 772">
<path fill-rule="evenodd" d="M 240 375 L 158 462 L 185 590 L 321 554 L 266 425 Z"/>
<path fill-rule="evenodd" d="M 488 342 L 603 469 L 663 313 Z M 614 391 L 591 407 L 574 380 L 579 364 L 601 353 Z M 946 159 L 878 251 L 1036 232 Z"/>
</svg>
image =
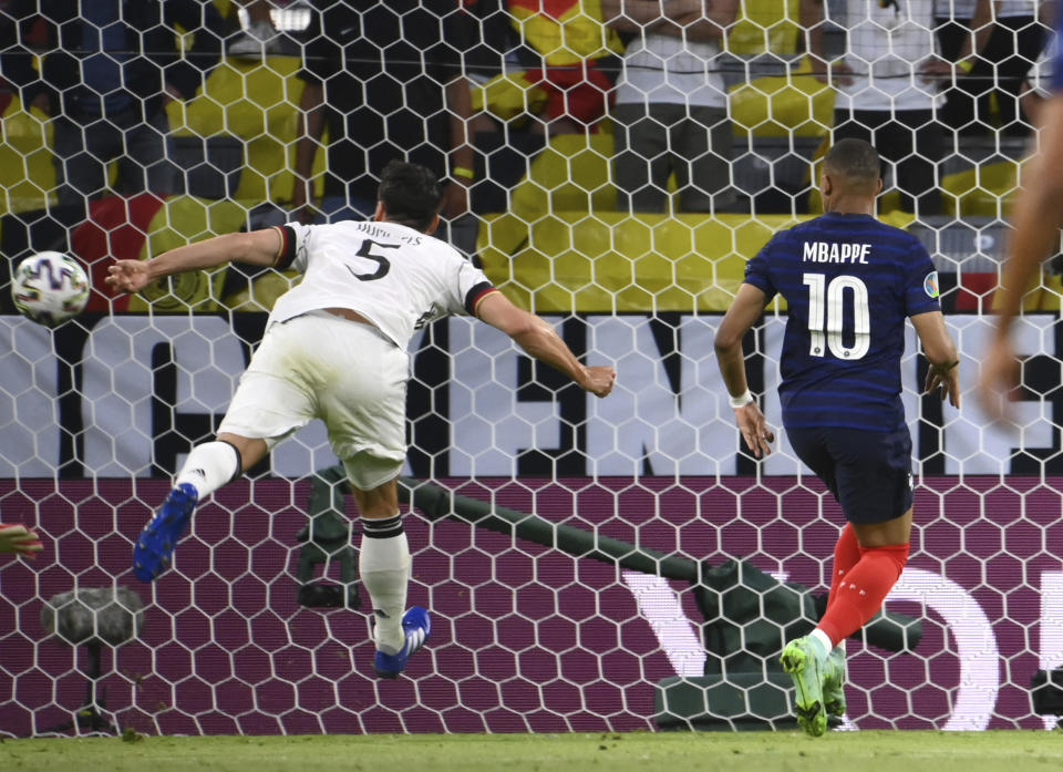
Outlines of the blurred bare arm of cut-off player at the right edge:
<svg viewBox="0 0 1063 772">
<path fill-rule="evenodd" d="M 1011 326 L 1022 307 L 1022 297 L 1041 263 L 1060 246 L 1063 226 L 1063 2 L 1055 8 L 1055 53 L 1052 61 L 1052 95 L 1039 116 L 1039 147 L 1023 165 L 1022 185 L 1011 212 L 1012 234 L 993 297 L 997 327 L 982 358 L 978 384 L 982 405 L 993 418 L 1007 414 L 1007 398 L 1019 382 L 1019 362 L 1011 344 Z"/>
</svg>

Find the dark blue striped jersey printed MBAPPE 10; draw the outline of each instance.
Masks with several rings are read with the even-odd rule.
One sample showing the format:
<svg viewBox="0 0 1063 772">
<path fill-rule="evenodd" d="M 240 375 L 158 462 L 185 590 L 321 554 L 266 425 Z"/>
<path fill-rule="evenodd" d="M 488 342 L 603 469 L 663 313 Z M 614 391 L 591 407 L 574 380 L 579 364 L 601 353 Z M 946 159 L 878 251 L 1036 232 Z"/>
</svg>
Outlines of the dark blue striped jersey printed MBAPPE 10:
<svg viewBox="0 0 1063 772">
<path fill-rule="evenodd" d="M 941 308 L 918 238 L 869 215 L 830 213 L 776 234 L 745 281 L 789 309 L 778 389 L 787 428 L 905 425 L 905 319 Z"/>
</svg>

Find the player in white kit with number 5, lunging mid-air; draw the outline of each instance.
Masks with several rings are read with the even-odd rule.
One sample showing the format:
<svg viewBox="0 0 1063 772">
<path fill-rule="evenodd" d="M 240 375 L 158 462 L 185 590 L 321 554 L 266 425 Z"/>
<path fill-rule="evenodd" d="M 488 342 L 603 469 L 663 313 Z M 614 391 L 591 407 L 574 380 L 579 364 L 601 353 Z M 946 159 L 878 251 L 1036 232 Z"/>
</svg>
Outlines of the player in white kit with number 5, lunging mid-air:
<svg viewBox="0 0 1063 772">
<path fill-rule="evenodd" d="M 138 537 L 138 578 L 151 581 L 168 567 L 197 502 L 319 418 L 361 515 L 359 574 L 373 604 L 374 669 L 394 678 L 424 645 L 427 613 L 405 610 L 411 559 L 395 487 L 405 460 L 406 346 L 414 331 L 467 313 L 597 397 L 607 395 L 616 380 L 611 367 L 581 364 L 546 321 L 514 306 L 483 271 L 429 236 L 438 224 L 440 200 L 430 171 L 394 161 L 381 175 L 373 222 L 287 224 L 110 267 L 107 284 L 124 292 L 230 260 L 302 274 L 277 300 L 217 440 L 192 450 Z"/>
</svg>

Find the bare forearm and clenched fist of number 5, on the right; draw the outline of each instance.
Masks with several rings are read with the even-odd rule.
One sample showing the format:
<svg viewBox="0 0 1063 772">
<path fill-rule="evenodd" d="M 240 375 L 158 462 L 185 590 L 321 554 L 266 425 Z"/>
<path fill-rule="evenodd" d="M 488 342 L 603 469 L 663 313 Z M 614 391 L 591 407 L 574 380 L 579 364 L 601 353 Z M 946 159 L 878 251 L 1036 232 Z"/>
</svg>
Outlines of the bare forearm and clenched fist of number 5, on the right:
<svg viewBox="0 0 1063 772">
<path fill-rule="evenodd" d="M 486 295 L 476 307 L 476 316 L 513 338 L 528 356 L 557 368 L 595 397 L 612 391 L 617 380 L 613 368 L 582 364 L 545 319 L 517 308 L 502 292 Z"/>
</svg>

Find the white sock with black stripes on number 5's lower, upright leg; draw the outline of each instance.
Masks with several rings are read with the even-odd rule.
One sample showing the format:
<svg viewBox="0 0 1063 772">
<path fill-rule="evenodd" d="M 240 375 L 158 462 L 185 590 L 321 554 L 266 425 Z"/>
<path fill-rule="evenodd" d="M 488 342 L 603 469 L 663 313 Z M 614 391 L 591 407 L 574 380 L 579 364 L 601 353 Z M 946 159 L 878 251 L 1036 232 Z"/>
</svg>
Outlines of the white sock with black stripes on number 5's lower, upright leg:
<svg viewBox="0 0 1063 772">
<path fill-rule="evenodd" d="M 402 615 L 406 610 L 410 564 L 401 515 L 362 518 L 358 574 L 373 605 L 376 648 L 384 653 L 399 653 L 406 642 Z"/>
</svg>

